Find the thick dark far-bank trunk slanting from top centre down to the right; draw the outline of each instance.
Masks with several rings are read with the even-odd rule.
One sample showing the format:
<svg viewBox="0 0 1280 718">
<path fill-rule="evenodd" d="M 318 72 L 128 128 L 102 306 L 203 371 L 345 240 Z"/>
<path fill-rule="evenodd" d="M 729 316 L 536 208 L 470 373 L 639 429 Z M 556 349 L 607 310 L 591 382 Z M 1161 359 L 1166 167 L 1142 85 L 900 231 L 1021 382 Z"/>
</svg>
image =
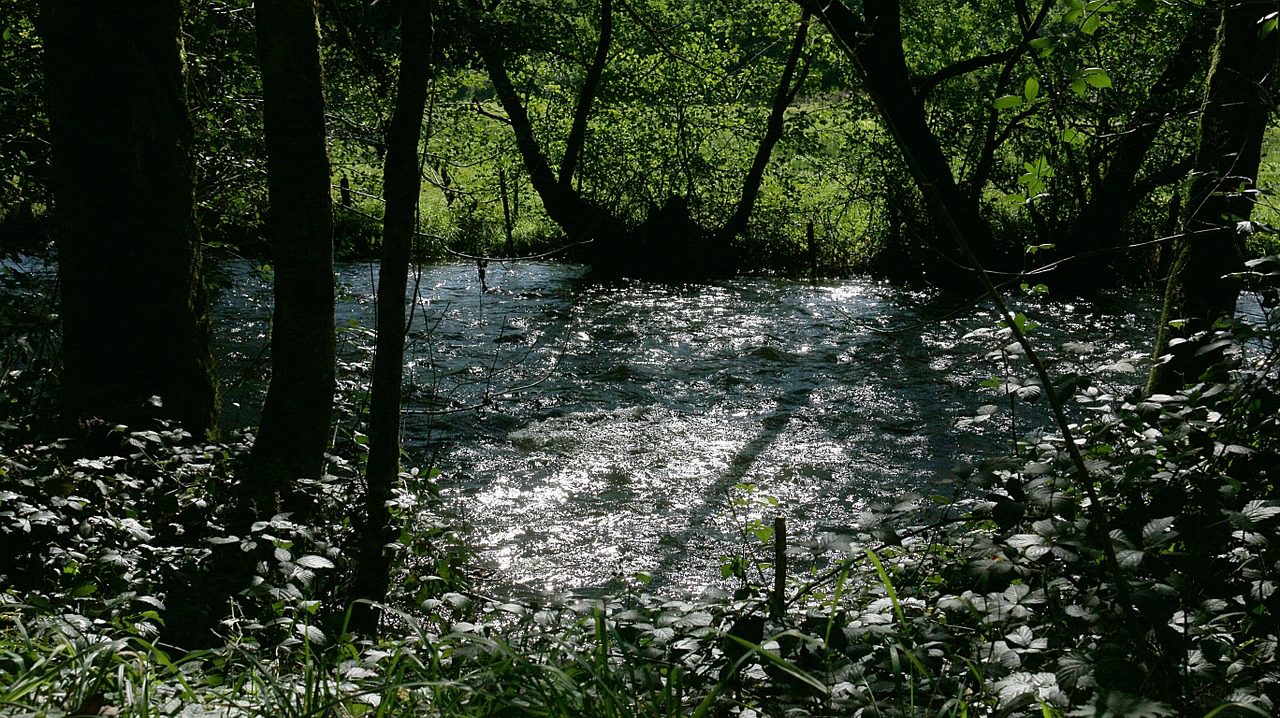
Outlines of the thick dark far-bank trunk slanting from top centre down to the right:
<svg viewBox="0 0 1280 718">
<path fill-rule="evenodd" d="M 867 0 L 861 15 L 852 13 L 841 0 L 796 1 L 827 26 L 841 50 L 854 61 L 924 196 L 938 232 L 961 238 L 984 264 L 993 261 L 997 255 L 991 225 L 956 184 L 951 164 L 929 129 L 924 104 L 911 90 L 911 76 L 902 52 L 899 1 Z M 959 251 L 950 253 L 950 260 L 961 266 L 966 262 Z M 954 266 L 945 266 L 947 275 L 955 278 Z"/>
</svg>

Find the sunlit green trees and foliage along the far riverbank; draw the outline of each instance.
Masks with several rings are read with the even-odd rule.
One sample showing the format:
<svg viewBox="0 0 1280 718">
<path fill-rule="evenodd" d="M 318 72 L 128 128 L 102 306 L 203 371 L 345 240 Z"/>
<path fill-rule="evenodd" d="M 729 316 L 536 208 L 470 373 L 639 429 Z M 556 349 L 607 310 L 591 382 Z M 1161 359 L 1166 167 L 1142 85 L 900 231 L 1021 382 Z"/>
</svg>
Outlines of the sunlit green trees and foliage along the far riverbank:
<svg viewBox="0 0 1280 718">
<path fill-rule="evenodd" d="M 339 256 L 379 242 L 392 5 L 319 6 Z M 957 259 L 941 202 L 989 227 L 977 248 L 1002 270 L 1053 264 L 1060 288 L 1080 289 L 1161 275 L 1170 252 L 1157 239 L 1179 227 L 1196 155 L 1212 8 L 873 4 L 858 19 L 884 32 L 856 49 L 815 8 L 438 3 L 447 29 L 431 50 L 416 251 L 534 255 L 599 234 L 568 256 L 640 274 L 657 252 L 700 273 L 941 282 Z M 202 235 L 269 256 L 251 14 L 188 3 L 183 50 Z M 33 1 L 15 3 L 3 42 L 10 238 L 32 237 L 20 228 L 51 206 L 35 20 Z M 655 239 L 671 223 L 689 242 Z M 1032 256 L 1033 244 L 1053 250 Z"/>
</svg>

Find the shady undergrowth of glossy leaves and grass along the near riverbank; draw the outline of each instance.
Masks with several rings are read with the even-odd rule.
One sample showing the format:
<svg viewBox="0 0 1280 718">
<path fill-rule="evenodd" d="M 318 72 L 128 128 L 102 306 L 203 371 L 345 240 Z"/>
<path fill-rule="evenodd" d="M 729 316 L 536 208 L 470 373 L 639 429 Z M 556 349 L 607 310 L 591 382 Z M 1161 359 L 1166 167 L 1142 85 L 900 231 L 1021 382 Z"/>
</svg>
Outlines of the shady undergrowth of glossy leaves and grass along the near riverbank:
<svg viewBox="0 0 1280 718">
<path fill-rule="evenodd" d="M 396 511 L 416 523 L 376 640 L 346 627 L 358 443 L 307 489 L 311 525 L 282 515 L 232 535 L 223 507 L 250 436 L 120 427 L 115 454 L 84 457 L 6 416 L 0 714 L 1267 715 L 1276 319 L 1217 328 L 1224 363 L 1167 395 L 1112 389 L 1101 367 L 1019 379 L 1009 328 L 978 333 L 1009 367 L 992 383 L 1007 411 L 1071 402 L 1097 503 L 1024 412 L 1005 456 L 957 467 L 940 495 L 786 546 L 781 596 L 759 521 L 744 530 L 760 550 L 726 559 L 737 591 L 663 596 L 636 575 L 598 599 L 486 596 L 449 521 L 424 511 L 433 472 L 407 472 Z M 995 406 L 982 421 L 1002 420 Z M 184 623 L 207 617 L 188 599 L 225 550 L 262 559 L 250 585 L 221 587 L 197 645 Z"/>
</svg>

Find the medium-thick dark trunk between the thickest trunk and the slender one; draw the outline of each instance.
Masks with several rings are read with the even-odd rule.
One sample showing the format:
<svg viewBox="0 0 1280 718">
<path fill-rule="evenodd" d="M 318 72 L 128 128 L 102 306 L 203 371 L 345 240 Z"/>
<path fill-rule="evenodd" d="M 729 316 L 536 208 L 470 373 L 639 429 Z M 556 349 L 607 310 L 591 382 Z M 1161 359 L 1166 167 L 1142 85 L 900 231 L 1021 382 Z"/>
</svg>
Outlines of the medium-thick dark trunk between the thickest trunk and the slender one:
<svg viewBox="0 0 1280 718">
<path fill-rule="evenodd" d="M 333 206 L 325 147 L 320 29 L 312 0 L 259 0 L 259 63 L 275 259 L 271 381 L 250 457 L 250 491 L 261 502 L 293 497 L 319 479 L 329 447 L 334 392 Z"/>
</svg>

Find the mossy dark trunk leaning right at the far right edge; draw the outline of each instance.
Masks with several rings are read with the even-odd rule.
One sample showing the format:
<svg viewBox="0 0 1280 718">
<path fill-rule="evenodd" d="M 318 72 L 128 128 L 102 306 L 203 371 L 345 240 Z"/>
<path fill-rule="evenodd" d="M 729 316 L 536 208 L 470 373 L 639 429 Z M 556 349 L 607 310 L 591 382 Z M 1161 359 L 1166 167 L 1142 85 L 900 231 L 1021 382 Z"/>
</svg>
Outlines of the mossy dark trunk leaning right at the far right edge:
<svg viewBox="0 0 1280 718">
<path fill-rule="evenodd" d="M 1206 81 L 1196 169 L 1187 195 L 1187 220 L 1169 274 L 1156 356 L 1169 353 L 1147 384 L 1149 392 L 1175 392 L 1197 381 L 1220 358 L 1201 352 L 1213 324 L 1235 314 L 1239 284 L 1225 275 L 1244 266 L 1236 223 L 1249 219 L 1271 119 L 1267 88 L 1276 68 L 1276 32 L 1260 37 L 1274 1 L 1228 0 Z M 1180 321 L 1180 326 L 1172 323 Z M 1172 339 L 1188 339 L 1171 347 Z"/>
</svg>

